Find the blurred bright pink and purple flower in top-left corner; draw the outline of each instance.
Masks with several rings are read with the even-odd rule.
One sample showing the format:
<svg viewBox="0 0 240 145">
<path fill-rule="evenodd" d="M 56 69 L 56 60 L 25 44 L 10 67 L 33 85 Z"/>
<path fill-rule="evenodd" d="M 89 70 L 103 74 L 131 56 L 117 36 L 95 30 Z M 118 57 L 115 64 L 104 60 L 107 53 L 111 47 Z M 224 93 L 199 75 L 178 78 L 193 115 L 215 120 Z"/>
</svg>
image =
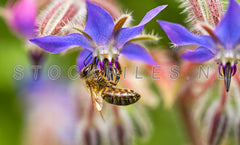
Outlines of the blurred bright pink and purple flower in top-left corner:
<svg viewBox="0 0 240 145">
<path fill-rule="evenodd" d="M 8 25 L 20 35 L 32 38 L 36 31 L 37 4 L 35 0 L 19 0 L 8 5 L 5 18 Z"/>
</svg>

